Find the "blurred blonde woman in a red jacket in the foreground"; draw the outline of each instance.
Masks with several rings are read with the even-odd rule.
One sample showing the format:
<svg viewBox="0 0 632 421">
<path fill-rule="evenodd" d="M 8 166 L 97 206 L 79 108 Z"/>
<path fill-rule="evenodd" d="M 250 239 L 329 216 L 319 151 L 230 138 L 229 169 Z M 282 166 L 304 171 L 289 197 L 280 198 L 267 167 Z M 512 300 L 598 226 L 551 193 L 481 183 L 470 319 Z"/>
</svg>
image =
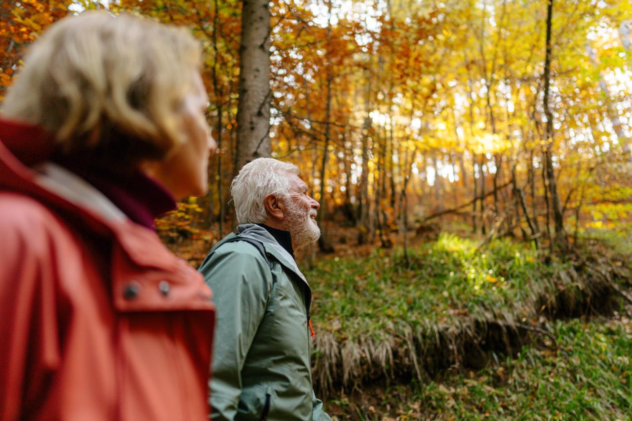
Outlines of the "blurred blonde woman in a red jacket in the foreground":
<svg viewBox="0 0 632 421">
<path fill-rule="evenodd" d="M 202 276 L 153 230 L 204 194 L 200 46 L 106 12 L 37 40 L 0 109 L 0 420 L 202 420 Z"/>
</svg>

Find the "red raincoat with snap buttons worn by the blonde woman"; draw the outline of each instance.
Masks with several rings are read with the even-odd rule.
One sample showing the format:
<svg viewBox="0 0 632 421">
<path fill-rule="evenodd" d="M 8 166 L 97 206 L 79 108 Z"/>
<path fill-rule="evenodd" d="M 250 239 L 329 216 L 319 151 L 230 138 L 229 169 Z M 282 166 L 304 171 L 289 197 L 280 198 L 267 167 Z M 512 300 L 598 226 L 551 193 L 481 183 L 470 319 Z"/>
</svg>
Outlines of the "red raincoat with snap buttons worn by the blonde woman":
<svg viewBox="0 0 632 421">
<path fill-rule="evenodd" d="M 51 147 L 37 128 L 0 129 L 0 420 L 206 420 L 202 276 L 94 188 L 27 167 Z"/>
</svg>

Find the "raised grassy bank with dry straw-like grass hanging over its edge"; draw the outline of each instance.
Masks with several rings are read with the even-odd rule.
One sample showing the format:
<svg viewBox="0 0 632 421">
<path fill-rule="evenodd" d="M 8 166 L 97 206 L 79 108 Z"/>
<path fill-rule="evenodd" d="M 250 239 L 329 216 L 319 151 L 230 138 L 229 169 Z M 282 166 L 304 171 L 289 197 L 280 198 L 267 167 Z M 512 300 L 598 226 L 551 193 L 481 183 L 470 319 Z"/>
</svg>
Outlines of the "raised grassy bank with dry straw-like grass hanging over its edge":
<svg viewBox="0 0 632 421">
<path fill-rule="evenodd" d="M 320 261 L 313 289 L 313 377 L 322 394 L 377 378 L 428 384 L 454 367 L 479 369 L 495 352 L 515 355 L 547 317 L 599 313 L 626 264 L 595 249 L 545 262 L 508 239 L 478 248 L 442 234 L 404 263 L 401 251 Z"/>
</svg>

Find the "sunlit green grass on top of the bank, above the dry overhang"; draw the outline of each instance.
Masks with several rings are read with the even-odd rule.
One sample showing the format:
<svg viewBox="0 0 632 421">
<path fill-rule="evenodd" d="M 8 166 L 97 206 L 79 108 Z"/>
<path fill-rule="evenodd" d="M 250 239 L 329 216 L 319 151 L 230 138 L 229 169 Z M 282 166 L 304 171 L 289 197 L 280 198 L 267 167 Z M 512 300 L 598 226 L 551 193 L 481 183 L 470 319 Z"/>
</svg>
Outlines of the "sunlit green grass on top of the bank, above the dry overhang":
<svg viewBox="0 0 632 421">
<path fill-rule="evenodd" d="M 368 258 L 320 262 L 306 274 L 315 324 L 355 339 L 378 337 L 400 322 L 432 328 L 464 317 L 522 319 L 554 288 L 554 271 L 535 251 L 509 240 L 477 251 L 472 240 L 442 234 L 413 250 L 410 261 L 407 267 L 401 251 L 377 250 Z"/>
</svg>

